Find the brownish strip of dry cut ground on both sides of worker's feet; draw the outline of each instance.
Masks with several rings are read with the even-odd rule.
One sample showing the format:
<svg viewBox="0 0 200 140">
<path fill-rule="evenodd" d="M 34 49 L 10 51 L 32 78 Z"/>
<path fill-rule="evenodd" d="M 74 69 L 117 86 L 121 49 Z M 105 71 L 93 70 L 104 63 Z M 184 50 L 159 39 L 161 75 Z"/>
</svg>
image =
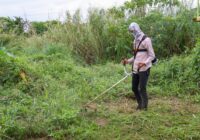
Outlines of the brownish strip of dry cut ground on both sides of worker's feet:
<svg viewBox="0 0 200 140">
<path fill-rule="evenodd" d="M 136 112 L 137 103 L 133 98 L 121 97 L 117 101 L 104 103 L 103 107 L 109 111 L 130 114 Z M 200 112 L 200 105 L 176 97 L 152 96 L 149 99 L 148 108 L 152 111 L 163 110 L 171 113 L 195 114 Z"/>
</svg>

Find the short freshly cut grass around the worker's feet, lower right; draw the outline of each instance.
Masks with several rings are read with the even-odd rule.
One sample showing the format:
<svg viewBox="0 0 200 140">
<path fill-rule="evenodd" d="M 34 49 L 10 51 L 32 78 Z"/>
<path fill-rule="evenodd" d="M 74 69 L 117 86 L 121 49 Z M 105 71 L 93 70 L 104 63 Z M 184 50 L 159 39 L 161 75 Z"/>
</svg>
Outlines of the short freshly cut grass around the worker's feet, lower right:
<svg viewBox="0 0 200 140">
<path fill-rule="evenodd" d="M 135 101 L 120 97 L 101 103 L 96 112 L 84 115 L 98 125 L 99 139 L 198 139 L 200 136 L 198 104 L 175 97 L 151 96 L 148 111 L 135 111 L 135 107 Z"/>
</svg>

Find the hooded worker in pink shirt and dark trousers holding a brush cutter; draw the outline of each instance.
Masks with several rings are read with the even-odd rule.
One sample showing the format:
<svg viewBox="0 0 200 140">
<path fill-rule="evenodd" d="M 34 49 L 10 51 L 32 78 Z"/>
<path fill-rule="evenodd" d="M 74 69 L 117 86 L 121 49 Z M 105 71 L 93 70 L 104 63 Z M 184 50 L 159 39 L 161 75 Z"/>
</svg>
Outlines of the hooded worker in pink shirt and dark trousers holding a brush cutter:
<svg viewBox="0 0 200 140">
<path fill-rule="evenodd" d="M 128 30 L 134 38 L 134 56 L 129 59 L 124 59 L 122 63 L 124 65 L 132 64 L 132 91 L 134 92 L 138 103 L 136 109 L 147 110 L 148 95 L 146 87 L 152 61 L 155 59 L 155 53 L 152 47 L 151 39 L 146 37 L 137 23 L 131 23 Z"/>
</svg>

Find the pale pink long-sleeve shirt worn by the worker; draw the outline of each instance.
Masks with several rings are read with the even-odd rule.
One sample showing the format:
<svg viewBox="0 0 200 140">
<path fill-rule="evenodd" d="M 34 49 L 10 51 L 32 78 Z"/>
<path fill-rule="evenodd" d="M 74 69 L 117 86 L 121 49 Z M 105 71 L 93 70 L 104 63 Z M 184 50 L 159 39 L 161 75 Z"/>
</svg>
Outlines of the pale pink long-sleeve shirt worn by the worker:
<svg viewBox="0 0 200 140">
<path fill-rule="evenodd" d="M 142 36 L 139 38 L 139 40 L 142 39 Z M 134 41 L 134 49 L 139 45 L 139 40 Z M 141 71 L 146 71 L 152 66 L 151 61 L 155 58 L 155 53 L 152 47 L 151 39 L 147 37 L 145 40 L 142 41 L 140 44 L 139 49 L 147 49 L 147 51 L 144 52 L 137 52 L 136 58 L 134 60 L 134 56 L 130 59 L 128 59 L 129 64 L 133 64 L 133 71 L 135 73 L 138 72 L 138 65 L 139 63 L 145 63 L 146 65 L 140 68 Z"/>
</svg>

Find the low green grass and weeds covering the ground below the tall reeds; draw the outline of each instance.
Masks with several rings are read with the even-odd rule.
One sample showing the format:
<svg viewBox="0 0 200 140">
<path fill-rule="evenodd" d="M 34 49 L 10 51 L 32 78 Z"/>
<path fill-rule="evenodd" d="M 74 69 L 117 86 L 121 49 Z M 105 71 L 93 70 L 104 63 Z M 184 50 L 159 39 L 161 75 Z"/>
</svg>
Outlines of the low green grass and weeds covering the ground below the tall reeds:
<svg viewBox="0 0 200 140">
<path fill-rule="evenodd" d="M 89 66 L 63 44 L 31 39 L 7 47 L 16 58 L 1 55 L 1 76 L 9 77 L 0 86 L 1 139 L 200 138 L 198 86 L 192 79 L 182 82 L 190 69 L 180 71 L 191 58 L 173 57 L 152 68 L 148 111 L 135 110 L 130 77 L 84 110 L 123 78 L 123 66 Z M 187 94 L 188 85 L 194 95 Z"/>
</svg>

